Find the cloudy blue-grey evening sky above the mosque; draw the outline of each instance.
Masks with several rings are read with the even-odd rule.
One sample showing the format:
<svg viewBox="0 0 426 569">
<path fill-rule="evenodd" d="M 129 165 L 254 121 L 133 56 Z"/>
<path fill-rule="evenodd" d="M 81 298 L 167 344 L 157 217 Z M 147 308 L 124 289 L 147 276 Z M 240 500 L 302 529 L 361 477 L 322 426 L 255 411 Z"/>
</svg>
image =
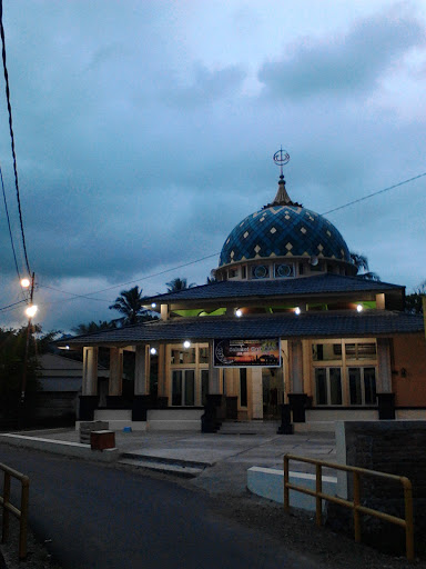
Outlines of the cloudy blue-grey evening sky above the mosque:
<svg viewBox="0 0 426 569">
<path fill-rule="evenodd" d="M 135 284 L 205 283 L 233 227 L 274 198 L 281 146 L 290 197 L 318 213 L 425 173 L 425 24 L 422 0 L 3 0 L 36 322 L 69 331 L 118 318 Z M 407 292 L 426 279 L 425 187 L 326 216 Z M 0 240 L 1 308 L 22 299 L 2 198 Z M 24 323 L 22 305 L 0 311 L 0 327 Z"/>
</svg>

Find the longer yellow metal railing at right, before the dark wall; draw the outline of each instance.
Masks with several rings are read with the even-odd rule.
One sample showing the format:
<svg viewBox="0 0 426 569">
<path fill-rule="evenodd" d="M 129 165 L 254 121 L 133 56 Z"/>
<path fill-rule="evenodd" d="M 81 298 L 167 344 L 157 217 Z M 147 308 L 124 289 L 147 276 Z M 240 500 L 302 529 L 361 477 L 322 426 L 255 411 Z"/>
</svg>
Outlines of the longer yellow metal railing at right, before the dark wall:
<svg viewBox="0 0 426 569">
<path fill-rule="evenodd" d="M 288 462 L 290 460 L 296 460 L 298 462 L 307 462 L 308 465 L 315 465 L 316 468 L 316 485 L 315 490 L 310 490 L 301 486 L 293 485 L 288 481 Z M 353 472 L 354 475 L 354 500 L 345 500 L 337 496 L 331 496 L 323 492 L 323 478 L 322 469 L 333 468 L 335 470 L 343 470 L 346 472 Z M 404 488 L 404 501 L 405 501 L 405 518 L 397 518 L 389 513 L 384 513 L 379 510 L 373 510 L 361 505 L 361 477 L 362 476 L 374 476 L 377 478 L 385 478 L 387 480 L 394 480 L 400 482 Z M 361 541 L 361 515 L 367 513 L 374 516 L 381 520 L 389 521 L 405 528 L 405 547 L 406 556 L 408 561 L 414 559 L 414 523 L 413 523 L 413 489 L 412 482 L 405 476 L 388 475 L 386 472 L 378 472 L 376 470 L 367 470 L 365 468 L 349 467 L 346 465 L 335 465 L 334 462 L 325 462 L 324 460 L 315 460 L 311 458 L 296 457 L 294 455 L 284 456 L 284 509 L 290 510 L 290 490 L 306 493 L 313 496 L 316 500 L 316 525 L 322 525 L 322 506 L 323 500 L 328 500 L 334 503 L 339 503 L 345 508 L 351 508 L 354 511 L 354 533 L 355 541 Z"/>
</svg>

